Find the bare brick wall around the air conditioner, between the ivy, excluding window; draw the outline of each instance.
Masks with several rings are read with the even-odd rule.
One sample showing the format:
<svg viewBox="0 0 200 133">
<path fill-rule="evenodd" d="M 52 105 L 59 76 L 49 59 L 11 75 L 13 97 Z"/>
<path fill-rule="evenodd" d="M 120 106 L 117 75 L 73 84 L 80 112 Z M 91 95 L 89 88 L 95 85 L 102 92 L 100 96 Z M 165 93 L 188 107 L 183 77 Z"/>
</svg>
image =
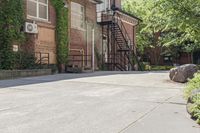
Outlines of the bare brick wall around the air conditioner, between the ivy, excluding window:
<svg viewBox="0 0 200 133">
<path fill-rule="evenodd" d="M 35 23 L 38 25 L 38 34 L 27 33 L 26 35 L 29 38 L 29 40 L 27 41 L 27 44 L 23 47 L 23 49 L 28 50 L 30 52 L 48 53 L 50 57 L 50 64 L 56 64 L 56 12 L 54 7 L 51 5 L 50 1 L 48 21 L 28 17 L 26 18 L 26 21 L 35 21 Z"/>
</svg>

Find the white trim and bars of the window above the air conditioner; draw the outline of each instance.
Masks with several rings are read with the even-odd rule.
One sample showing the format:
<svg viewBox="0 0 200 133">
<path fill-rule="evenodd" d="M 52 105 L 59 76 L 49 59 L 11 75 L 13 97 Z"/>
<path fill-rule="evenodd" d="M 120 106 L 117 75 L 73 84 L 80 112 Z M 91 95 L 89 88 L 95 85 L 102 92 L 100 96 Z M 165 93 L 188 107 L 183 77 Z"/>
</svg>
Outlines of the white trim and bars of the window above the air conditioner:
<svg viewBox="0 0 200 133">
<path fill-rule="evenodd" d="M 49 0 L 47 0 L 47 4 L 44 4 L 44 3 L 42 3 L 42 2 L 39 2 L 39 0 L 37 0 L 37 1 L 35 1 L 35 0 L 28 0 L 28 1 L 31 1 L 31 2 L 34 2 L 34 3 L 36 3 L 36 15 L 37 15 L 37 17 L 35 17 L 35 16 L 31 16 L 31 15 L 29 15 L 28 14 L 28 11 L 27 11 L 27 18 L 30 18 L 30 19 L 36 19 L 36 20 L 42 20 L 42 21 L 49 21 Z M 27 1 L 27 2 L 28 2 Z M 47 19 L 44 19 L 44 18 L 40 18 L 39 17 L 39 5 L 43 5 L 43 6 L 46 6 L 47 7 Z M 28 5 L 27 5 L 28 6 Z"/>
</svg>

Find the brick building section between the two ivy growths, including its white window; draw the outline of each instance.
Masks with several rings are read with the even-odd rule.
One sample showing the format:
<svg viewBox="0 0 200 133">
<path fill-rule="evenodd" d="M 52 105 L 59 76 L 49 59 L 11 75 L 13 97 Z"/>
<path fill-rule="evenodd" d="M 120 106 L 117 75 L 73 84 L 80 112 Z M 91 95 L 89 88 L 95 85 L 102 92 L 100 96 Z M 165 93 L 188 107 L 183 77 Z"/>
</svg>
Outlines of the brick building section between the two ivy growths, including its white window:
<svg viewBox="0 0 200 133">
<path fill-rule="evenodd" d="M 49 57 L 49 60 L 45 60 L 44 63 L 56 64 L 56 12 L 54 7 L 49 0 L 24 0 L 24 3 L 26 23 L 37 26 L 36 32 L 26 33 L 29 41 L 24 49 L 34 51 L 38 59 Z"/>
</svg>

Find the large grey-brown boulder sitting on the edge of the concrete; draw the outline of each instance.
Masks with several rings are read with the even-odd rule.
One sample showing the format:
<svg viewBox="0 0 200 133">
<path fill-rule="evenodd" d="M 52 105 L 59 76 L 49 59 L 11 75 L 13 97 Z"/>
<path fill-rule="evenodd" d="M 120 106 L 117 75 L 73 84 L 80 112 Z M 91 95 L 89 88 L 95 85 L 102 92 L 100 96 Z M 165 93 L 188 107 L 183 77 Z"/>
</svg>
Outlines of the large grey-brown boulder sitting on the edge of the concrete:
<svg viewBox="0 0 200 133">
<path fill-rule="evenodd" d="M 198 71 L 198 67 L 194 64 L 185 64 L 172 68 L 169 77 L 171 80 L 179 83 L 185 83 L 188 79 L 193 78 L 194 74 Z"/>
</svg>

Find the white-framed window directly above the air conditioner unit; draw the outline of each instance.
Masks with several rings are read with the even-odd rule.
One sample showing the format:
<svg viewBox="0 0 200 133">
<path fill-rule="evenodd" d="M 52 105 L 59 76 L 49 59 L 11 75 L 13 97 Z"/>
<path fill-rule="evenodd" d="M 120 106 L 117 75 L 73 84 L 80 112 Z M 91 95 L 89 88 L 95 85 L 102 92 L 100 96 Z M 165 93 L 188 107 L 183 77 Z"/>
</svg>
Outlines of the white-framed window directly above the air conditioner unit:
<svg viewBox="0 0 200 133">
<path fill-rule="evenodd" d="M 48 20 L 48 0 L 27 0 L 27 15 L 31 18 Z"/>
</svg>

